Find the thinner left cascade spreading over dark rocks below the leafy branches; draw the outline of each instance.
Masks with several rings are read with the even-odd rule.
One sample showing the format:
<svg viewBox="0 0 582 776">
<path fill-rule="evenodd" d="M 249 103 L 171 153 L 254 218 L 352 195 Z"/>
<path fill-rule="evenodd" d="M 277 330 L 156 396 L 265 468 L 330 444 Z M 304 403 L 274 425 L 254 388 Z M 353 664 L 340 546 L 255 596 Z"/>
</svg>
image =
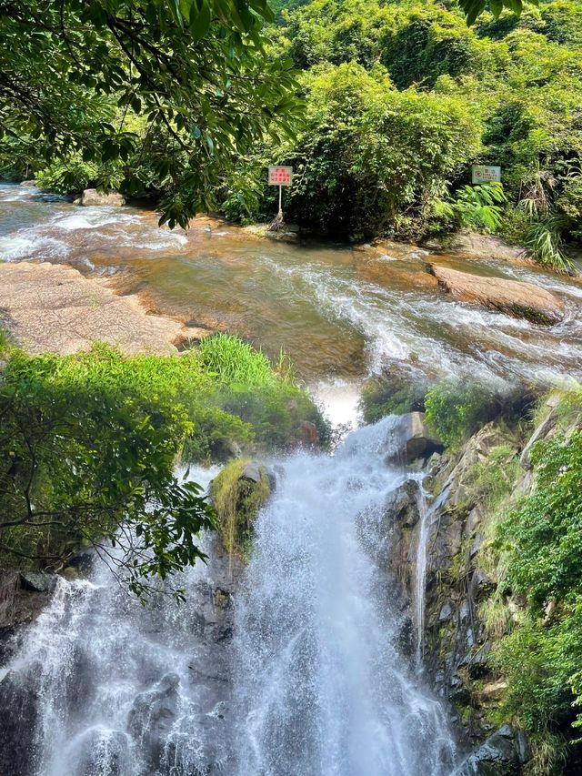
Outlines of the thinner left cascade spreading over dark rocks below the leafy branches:
<svg viewBox="0 0 582 776">
<path fill-rule="evenodd" d="M 211 539 L 203 542 L 209 552 Z M 230 750 L 230 626 L 215 599 L 227 565 L 215 555 L 175 577 L 186 605 L 160 595 L 141 606 L 102 562 L 89 579 L 59 579 L 0 683 L 13 718 L 24 712 L 16 736 L 28 736 L 16 757 L 2 731 L 13 747 L 3 776 L 190 776 L 220 767 Z"/>
</svg>

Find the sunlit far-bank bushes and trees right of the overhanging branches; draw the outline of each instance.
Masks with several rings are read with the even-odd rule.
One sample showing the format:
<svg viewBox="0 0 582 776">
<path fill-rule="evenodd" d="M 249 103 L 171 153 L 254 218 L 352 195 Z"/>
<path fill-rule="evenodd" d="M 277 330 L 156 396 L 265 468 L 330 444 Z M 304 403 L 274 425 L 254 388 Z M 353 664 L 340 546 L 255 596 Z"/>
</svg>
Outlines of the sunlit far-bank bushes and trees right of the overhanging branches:
<svg viewBox="0 0 582 776">
<path fill-rule="evenodd" d="M 564 246 L 579 240 L 582 219 L 577 2 L 485 14 L 469 29 L 452 3 L 314 0 L 283 10 L 273 35 L 301 71 L 306 126 L 241 162 L 228 215 L 274 212 L 270 160 L 295 166 L 287 213 L 306 226 L 415 239 L 485 228 L 568 267 Z M 483 218 L 471 203 L 473 163 L 503 168 L 507 203 L 477 202 L 503 213 Z M 250 198 L 236 188 L 249 177 Z"/>
</svg>

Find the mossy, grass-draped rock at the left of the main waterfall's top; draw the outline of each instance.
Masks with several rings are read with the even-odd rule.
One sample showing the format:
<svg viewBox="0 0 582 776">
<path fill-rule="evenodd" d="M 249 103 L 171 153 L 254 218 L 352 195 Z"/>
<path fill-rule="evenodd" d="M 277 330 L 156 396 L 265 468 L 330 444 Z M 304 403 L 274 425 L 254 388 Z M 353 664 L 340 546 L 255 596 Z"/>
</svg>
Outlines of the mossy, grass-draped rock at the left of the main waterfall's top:
<svg viewBox="0 0 582 776">
<path fill-rule="evenodd" d="M 250 459 L 231 461 L 213 479 L 210 497 L 218 529 L 229 555 L 246 558 L 258 510 L 271 493 L 266 467 Z"/>
</svg>

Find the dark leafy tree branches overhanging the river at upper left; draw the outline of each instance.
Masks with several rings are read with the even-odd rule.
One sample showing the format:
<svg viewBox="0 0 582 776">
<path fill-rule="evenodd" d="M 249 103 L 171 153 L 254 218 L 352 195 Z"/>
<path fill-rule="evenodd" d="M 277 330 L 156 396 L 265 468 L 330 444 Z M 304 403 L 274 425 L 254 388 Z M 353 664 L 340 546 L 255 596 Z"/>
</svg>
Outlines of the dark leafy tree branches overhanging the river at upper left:
<svg viewBox="0 0 582 776">
<path fill-rule="evenodd" d="M 291 132 L 271 15 L 266 0 L 0 0 L 0 142 L 127 166 L 155 142 L 162 220 L 185 226 L 234 156 Z M 126 171 L 126 193 L 142 183 Z"/>
</svg>

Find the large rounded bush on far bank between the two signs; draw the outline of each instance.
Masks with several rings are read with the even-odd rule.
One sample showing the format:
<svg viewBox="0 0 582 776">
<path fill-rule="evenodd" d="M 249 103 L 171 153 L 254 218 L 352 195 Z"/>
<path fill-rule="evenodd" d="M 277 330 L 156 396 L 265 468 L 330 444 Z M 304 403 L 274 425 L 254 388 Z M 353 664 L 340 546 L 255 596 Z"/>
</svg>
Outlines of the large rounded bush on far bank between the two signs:
<svg viewBox="0 0 582 776">
<path fill-rule="evenodd" d="M 258 177 L 268 156 L 295 166 L 286 215 L 318 231 L 361 239 L 389 230 L 477 152 L 478 127 L 463 100 L 398 92 L 381 66 L 316 67 L 302 84 L 305 131 L 293 145 L 262 151 L 247 175 Z"/>
</svg>

